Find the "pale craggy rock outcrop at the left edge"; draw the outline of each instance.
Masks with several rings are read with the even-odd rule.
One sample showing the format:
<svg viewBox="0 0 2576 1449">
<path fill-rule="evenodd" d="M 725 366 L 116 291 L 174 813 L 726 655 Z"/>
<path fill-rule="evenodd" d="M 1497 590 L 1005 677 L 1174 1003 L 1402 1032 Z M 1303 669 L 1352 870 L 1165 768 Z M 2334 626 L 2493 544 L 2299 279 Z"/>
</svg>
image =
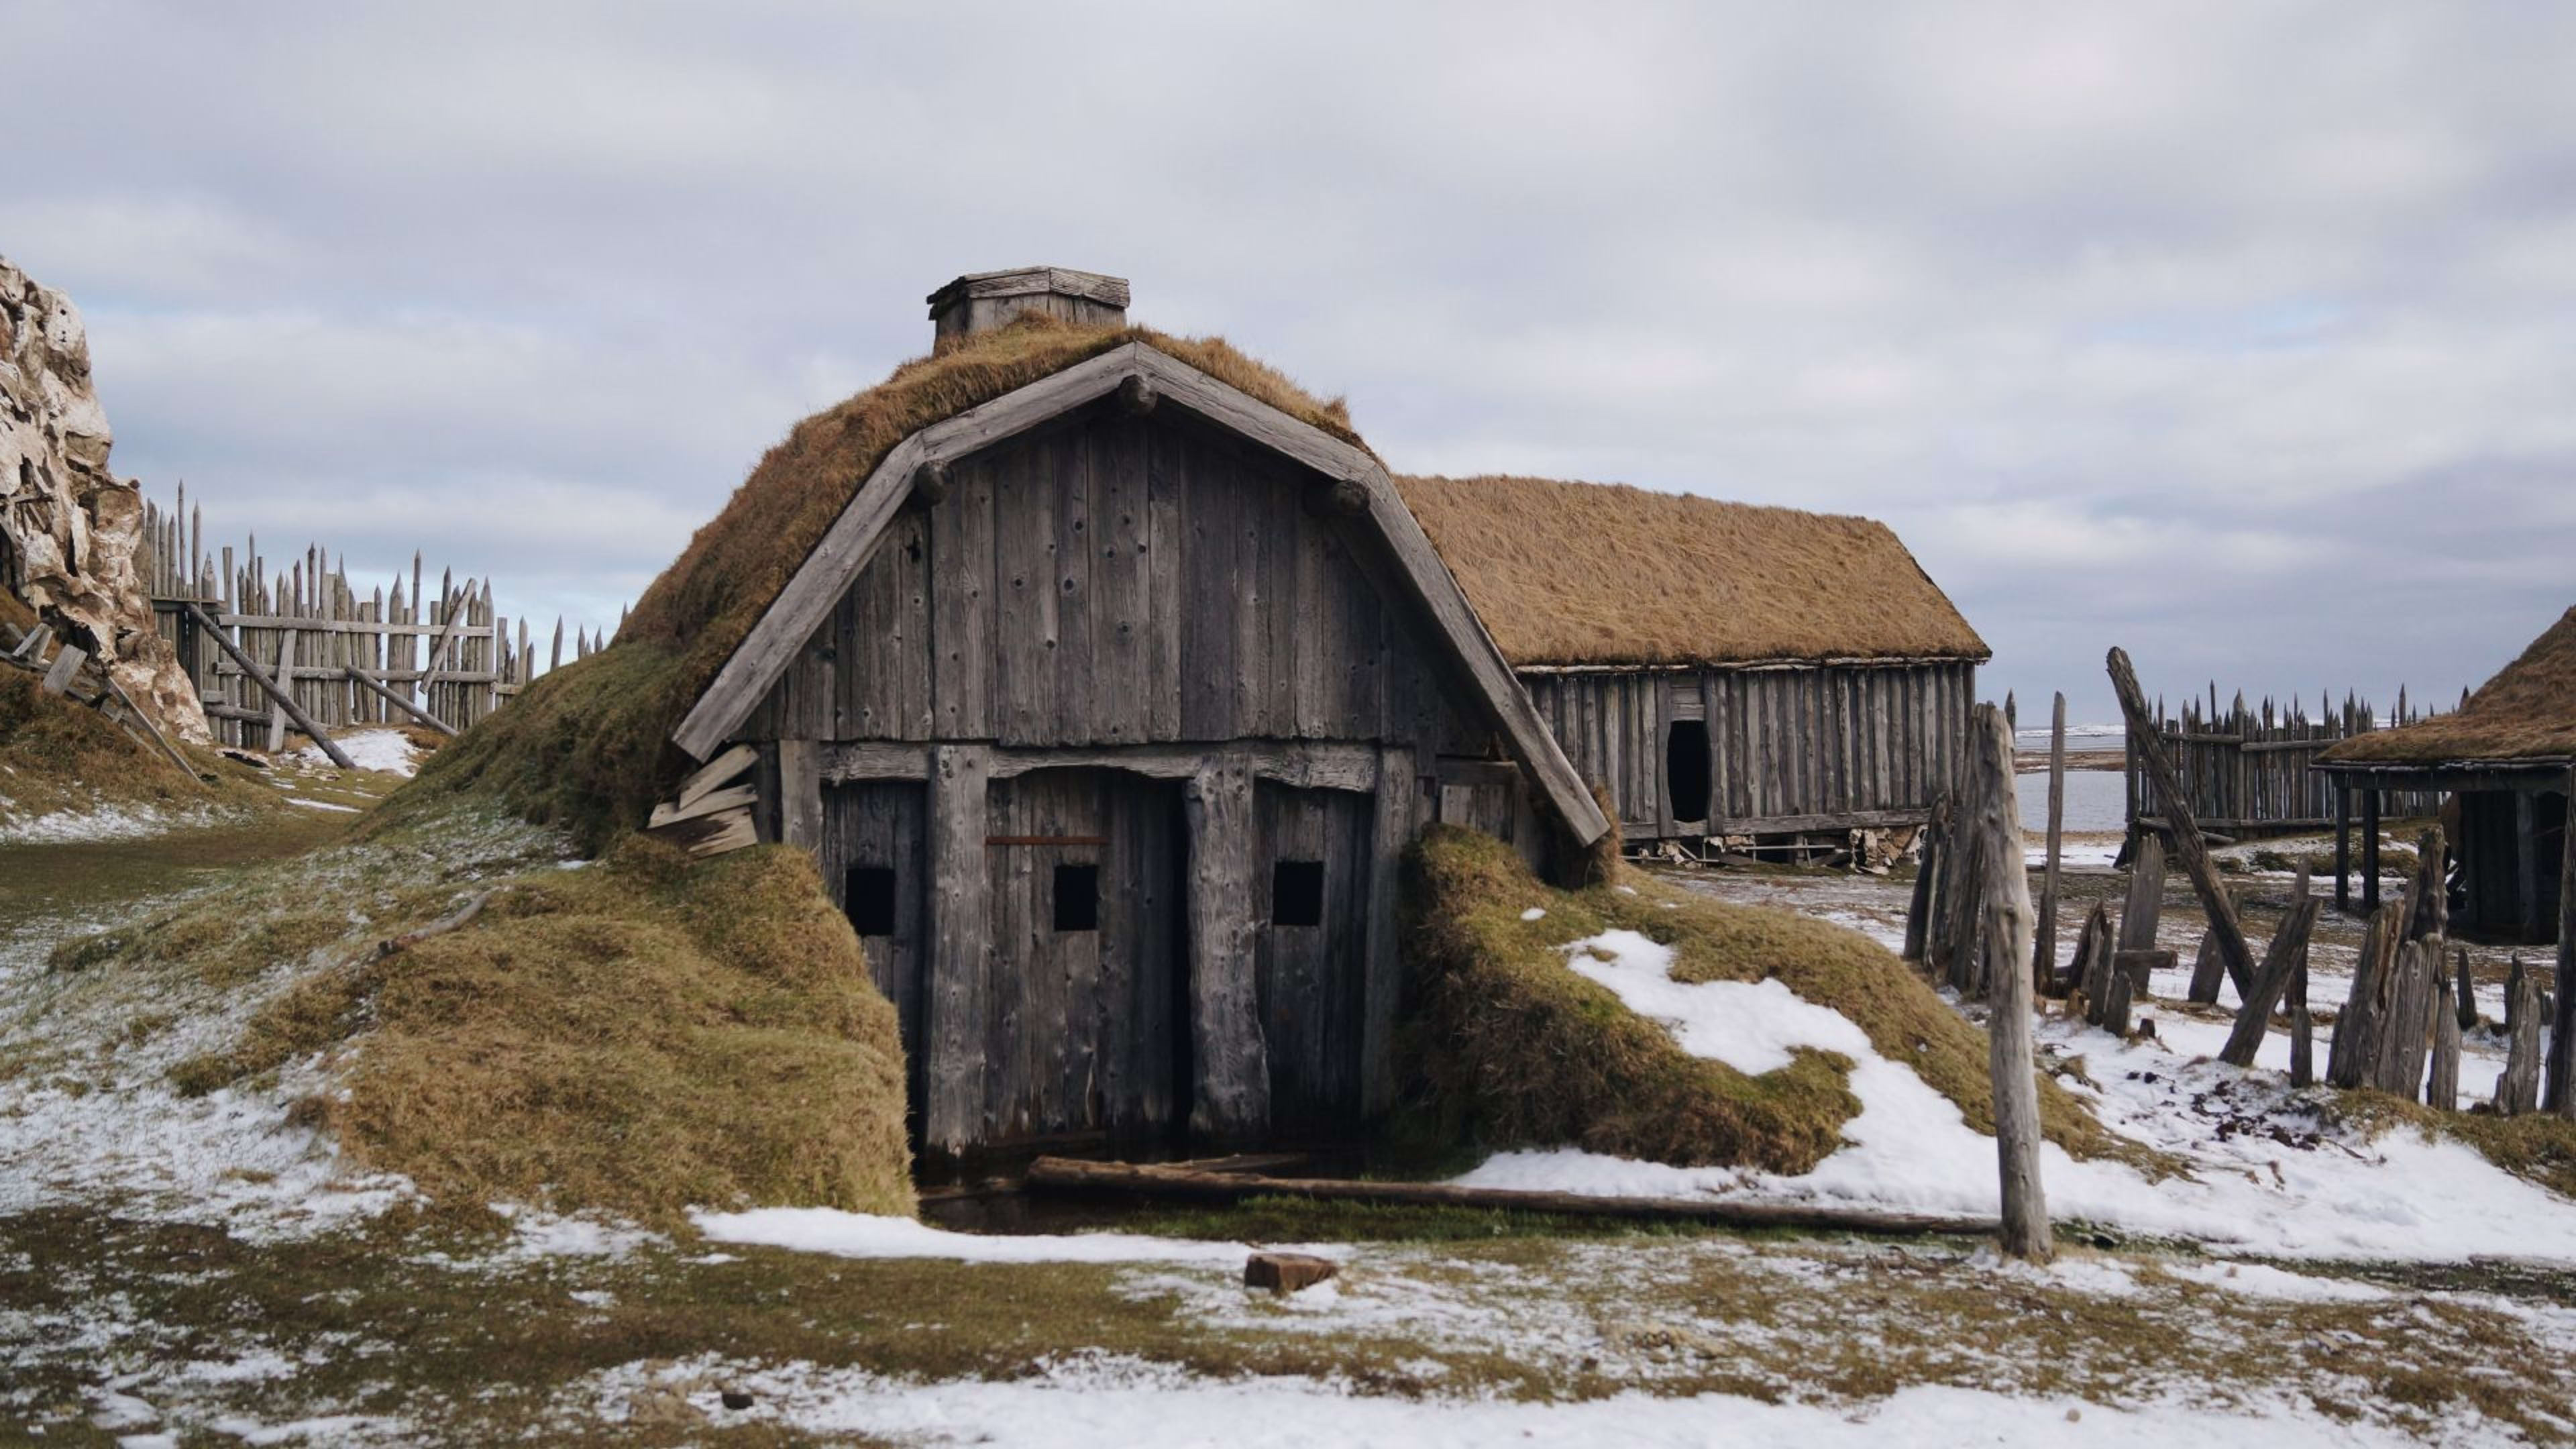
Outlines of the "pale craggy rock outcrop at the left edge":
<svg viewBox="0 0 2576 1449">
<path fill-rule="evenodd" d="M 108 443 L 80 309 L 0 258 L 0 583 L 165 732 L 206 743 L 196 688 L 152 629 L 142 490 L 108 472 Z"/>
</svg>

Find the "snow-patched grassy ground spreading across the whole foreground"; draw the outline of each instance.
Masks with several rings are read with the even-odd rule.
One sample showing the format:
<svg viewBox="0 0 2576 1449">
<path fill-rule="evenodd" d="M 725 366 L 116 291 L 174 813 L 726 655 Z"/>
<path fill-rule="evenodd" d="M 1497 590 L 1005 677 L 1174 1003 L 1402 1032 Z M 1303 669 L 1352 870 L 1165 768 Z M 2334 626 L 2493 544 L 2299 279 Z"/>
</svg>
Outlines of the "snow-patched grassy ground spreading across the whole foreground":
<svg viewBox="0 0 2576 1449">
<path fill-rule="evenodd" d="M 376 871 L 546 851 L 492 828 L 392 866 L 322 856 L 301 890 L 363 905 Z M 1901 938 L 1904 882 L 1680 879 Z M 2200 1060 L 2221 1024 L 2169 1008 L 2148 1008 L 2161 1042 L 2040 1031 L 2105 1124 L 2192 1168 L 2148 1183 L 2050 1147 L 2053 1212 L 2130 1240 L 2069 1232 L 2050 1269 L 1973 1243 L 1365 1214 L 999 1238 L 829 1209 L 708 1212 L 696 1232 L 510 1209 L 371 1238 L 417 1194 L 296 1124 L 312 1062 L 204 1098 L 165 1080 L 296 964 L 227 990 L 44 967 L 52 941 L 170 902 L 0 910 L 18 923 L 0 936 L 0 1439 L 2576 1441 L 2576 1207 L 2458 1145 L 2342 1134 L 2264 1070 L 2285 1042 L 2236 1073 Z M 2184 954 L 2190 918 L 2169 902 Z M 1850 1142 L 1798 1178 L 1520 1152 L 1468 1181 L 1991 1212 L 1991 1140 L 1842 1016 L 1777 982 L 1672 982 L 1633 933 L 1569 964 L 1744 1070 L 1795 1044 L 1850 1055 Z M 2339 998 L 2336 972 L 2349 944 L 2321 941 L 2316 1000 Z M 2476 1091 L 2491 1067 L 2463 1075 Z M 1247 1292 L 1244 1238 L 1321 1238 L 1303 1250 L 1342 1274 Z"/>
</svg>

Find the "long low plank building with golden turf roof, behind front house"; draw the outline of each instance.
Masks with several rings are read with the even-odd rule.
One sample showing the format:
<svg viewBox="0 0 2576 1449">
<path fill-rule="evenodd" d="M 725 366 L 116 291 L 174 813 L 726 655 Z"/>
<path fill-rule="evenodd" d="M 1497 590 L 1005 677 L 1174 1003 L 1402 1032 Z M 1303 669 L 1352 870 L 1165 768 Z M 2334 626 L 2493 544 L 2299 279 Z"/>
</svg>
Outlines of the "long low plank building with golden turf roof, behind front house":
<svg viewBox="0 0 2576 1449">
<path fill-rule="evenodd" d="M 1870 518 L 1535 477 L 1401 477 L 1631 846 L 1847 843 L 1963 766 L 1986 642 Z"/>
</svg>

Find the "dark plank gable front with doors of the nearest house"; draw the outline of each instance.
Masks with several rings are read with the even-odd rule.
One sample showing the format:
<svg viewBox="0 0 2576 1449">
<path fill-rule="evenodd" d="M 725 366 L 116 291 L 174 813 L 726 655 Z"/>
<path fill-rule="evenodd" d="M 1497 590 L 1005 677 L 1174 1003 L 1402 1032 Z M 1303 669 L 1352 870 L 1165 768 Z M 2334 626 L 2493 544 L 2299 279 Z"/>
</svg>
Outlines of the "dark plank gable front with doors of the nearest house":
<svg viewBox="0 0 2576 1449">
<path fill-rule="evenodd" d="M 1404 846 L 1543 848 L 1386 541 L 1170 413 L 951 459 L 737 735 L 933 1158 L 1329 1140 L 1391 1101 Z"/>
</svg>

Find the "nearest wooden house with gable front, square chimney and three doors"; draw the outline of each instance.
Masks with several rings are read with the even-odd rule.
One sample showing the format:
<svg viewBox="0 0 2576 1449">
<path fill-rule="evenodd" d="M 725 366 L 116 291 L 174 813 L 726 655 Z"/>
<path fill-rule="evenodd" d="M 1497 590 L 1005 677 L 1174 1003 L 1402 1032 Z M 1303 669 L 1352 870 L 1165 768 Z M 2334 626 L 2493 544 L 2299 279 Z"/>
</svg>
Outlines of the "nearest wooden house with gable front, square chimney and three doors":
<svg viewBox="0 0 2576 1449">
<path fill-rule="evenodd" d="M 1334 410 L 1123 330 L 1118 278 L 930 302 L 940 358 L 881 392 L 1028 379 L 878 451 L 842 441 L 860 394 L 762 462 L 729 513 L 791 477 L 848 503 L 672 735 L 711 763 L 657 820 L 817 851 L 930 1158 L 1334 1137 L 1394 1093 L 1404 846 L 1471 817 L 1571 869 L 1610 822 Z"/>
</svg>

